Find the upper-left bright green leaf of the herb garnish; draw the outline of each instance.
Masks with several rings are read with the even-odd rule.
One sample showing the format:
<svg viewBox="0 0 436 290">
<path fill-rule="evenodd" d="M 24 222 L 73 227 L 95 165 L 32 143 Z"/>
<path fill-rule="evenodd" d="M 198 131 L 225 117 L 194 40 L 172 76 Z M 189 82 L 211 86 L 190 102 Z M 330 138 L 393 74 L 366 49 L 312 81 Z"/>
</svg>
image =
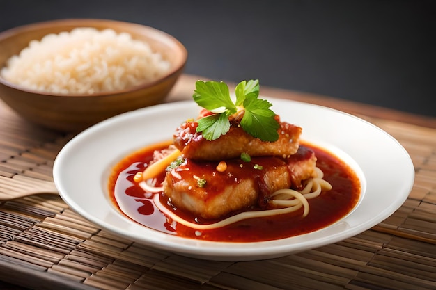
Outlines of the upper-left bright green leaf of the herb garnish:
<svg viewBox="0 0 436 290">
<path fill-rule="evenodd" d="M 197 81 L 195 84 L 194 101 L 212 113 L 236 113 L 236 106 L 233 104 L 228 86 L 224 82 Z"/>
</svg>

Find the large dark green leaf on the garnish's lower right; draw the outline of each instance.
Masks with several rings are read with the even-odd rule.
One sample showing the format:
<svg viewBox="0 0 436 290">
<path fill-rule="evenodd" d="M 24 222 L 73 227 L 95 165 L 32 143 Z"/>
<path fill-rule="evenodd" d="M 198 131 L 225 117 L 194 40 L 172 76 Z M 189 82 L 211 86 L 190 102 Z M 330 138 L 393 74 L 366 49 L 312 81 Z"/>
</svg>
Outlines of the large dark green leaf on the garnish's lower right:
<svg viewBox="0 0 436 290">
<path fill-rule="evenodd" d="M 277 129 L 280 125 L 274 119 L 275 113 L 270 109 L 272 104 L 265 99 L 246 97 L 244 101 L 244 117 L 241 127 L 251 136 L 263 141 L 276 141 L 279 138 Z"/>
</svg>

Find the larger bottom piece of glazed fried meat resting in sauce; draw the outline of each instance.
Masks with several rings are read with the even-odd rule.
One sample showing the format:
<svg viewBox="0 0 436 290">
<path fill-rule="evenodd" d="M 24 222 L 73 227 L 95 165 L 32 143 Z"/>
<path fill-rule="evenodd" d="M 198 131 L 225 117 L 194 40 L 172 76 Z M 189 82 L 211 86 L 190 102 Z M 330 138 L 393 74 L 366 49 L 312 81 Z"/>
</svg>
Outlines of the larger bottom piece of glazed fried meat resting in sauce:
<svg viewBox="0 0 436 290">
<path fill-rule="evenodd" d="M 270 195 L 281 188 L 299 188 L 315 174 L 316 156 L 300 146 L 288 158 L 265 156 L 226 161 L 224 172 L 218 162 L 186 159 L 166 173 L 164 194 L 173 205 L 205 219 L 220 218 L 232 211 L 258 204 L 267 207 Z"/>
</svg>

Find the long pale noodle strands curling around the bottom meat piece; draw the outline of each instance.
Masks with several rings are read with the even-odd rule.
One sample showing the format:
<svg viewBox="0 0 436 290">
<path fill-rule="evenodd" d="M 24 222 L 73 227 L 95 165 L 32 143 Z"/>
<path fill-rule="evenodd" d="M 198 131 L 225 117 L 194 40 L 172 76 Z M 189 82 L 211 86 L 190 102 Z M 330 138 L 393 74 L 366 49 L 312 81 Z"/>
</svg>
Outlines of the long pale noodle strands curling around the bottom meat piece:
<svg viewBox="0 0 436 290">
<path fill-rule="evenodd" d="M 235 216 L 220 220 L 217 223 L 198 224 L 189 222 L 188 220 L 181 218 L 177 214 L 174 214 L 173 211 L 167 209 L 160 202 L 159 194 L 155 194 L 155 196 L 153 197 L 153 202 L 155 202 L 156 207 L 160 211 L 162 211 L 163 214 L 165 214 L 172 220 L 187 227 L 191 227 L 192 229 L 198 230 L 225 227 L 226 225 L 231 225 L 241 220 L 246 220 L 248 218 L 260 218 L 265 216 L 275 216 L 278 214 L 288 214 L 293 211 L 297 211 L 302 207 L 304 207 L 304 212 L 302 216 L 305 217 L 307 216 L 307 214 L 309 214 L 309 202 L 307 200 L 311 198 L 316 198 L 323 190 L 326 191 L 332 189 L 331 184 L 322 179 L 322 177 L 324 177 L 324 173 L 322 172 L 322 170 L 320 170 L 320 168 L 316 168 L 316 177 L 309 179 L 306 183 L 306 186 L 304 186 L 301 191 L 284 188 L 272 193 L 271 200 L 269 202 L 270 205 L 274 207 L 274 209 L 267 209 L 262 211 L 244 211 L 240 214 L 236 214 Z M 139 186 L 141 186 L 144 191 L 149 191 L 153 193 L 162 191 L 162 187 L 153 188 L 153 185 L 147 184 L 146 182 L 140 182 Z"/>
</svg>

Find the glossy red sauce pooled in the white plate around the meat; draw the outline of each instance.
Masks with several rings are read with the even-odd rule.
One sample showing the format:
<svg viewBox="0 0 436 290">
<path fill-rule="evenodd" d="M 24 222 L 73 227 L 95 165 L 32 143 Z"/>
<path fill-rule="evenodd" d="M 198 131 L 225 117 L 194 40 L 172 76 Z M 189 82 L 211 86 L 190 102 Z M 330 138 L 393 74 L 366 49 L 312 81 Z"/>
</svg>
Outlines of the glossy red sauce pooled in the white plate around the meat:
<svg viewBox="0 0 436 290">
<path fill-rule="evenodd" d="M 153 151 L 166 146 L 167 144 L 157 144 L 147 147 L 121 160 L 109 178 L 109 194 L 119 210 L 119 202 L 129 204 L 129 212 L 123 213 L 127 217 L 134 216 L 132 219 L 135 222 L 168 234 L 208 241 L 253 242 L 283 239 L 313 232 L 335 223 L 348 214 L 359 200 L 360 182 L 355 172 L 326 150 L 304 144 L 315 152 L 318 168 L 324 172 L 324 179 L 333 187 L 332 190 L 322 192 L 317 198 L 309 200 L 308 216 L 302 217 L 303 209 L 300 209 L 290 214 L 242 220 L 219 229 L 202 230 L 201 234 L 198 234 L 196 229 L 173 223 L 170 218 L 164 216 L 155 207 L 153 194 L 144 193 L 143 189 L 133 182 L 134 175 L 143 171 L 153 159 Z M 164 173 L 158 182 L 162 182 L 163 179 Z M 168 205 L 164 195 L 160 194 L 160 199 L 162 204 Z M 167 207 L 172 209 L 171 204 Z M 177 214 L 187 220 L 196 220 L 187 213 Z"/>
</svg>

